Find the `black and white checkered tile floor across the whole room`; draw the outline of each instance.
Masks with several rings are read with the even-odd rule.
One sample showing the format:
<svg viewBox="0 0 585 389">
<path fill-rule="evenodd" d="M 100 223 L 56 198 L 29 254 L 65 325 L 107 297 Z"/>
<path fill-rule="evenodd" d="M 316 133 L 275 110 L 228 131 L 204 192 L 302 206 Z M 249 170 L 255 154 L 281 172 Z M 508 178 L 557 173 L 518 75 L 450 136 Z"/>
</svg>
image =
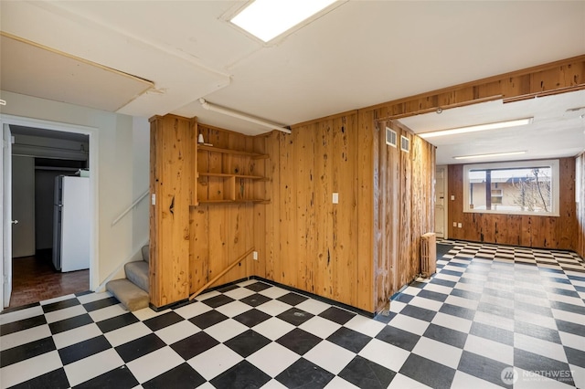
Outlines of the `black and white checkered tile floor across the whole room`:
<svg viewBox="0 0 585 389">
<path fill-rule="evenodd" d="M 163 312 L 108 293 L 5 312 L 0 385 L 585 388 L 580 258 L 451 243 L 375 319 L 257 280 Z"/>
</svg>

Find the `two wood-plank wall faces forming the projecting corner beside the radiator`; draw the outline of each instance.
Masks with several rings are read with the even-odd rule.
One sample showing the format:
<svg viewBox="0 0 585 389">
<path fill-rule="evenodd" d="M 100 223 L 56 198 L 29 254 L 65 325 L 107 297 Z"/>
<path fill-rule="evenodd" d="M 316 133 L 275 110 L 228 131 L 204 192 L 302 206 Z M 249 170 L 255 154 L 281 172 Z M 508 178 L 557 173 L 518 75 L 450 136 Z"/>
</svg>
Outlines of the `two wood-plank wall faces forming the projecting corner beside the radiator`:
<svg viewBox="0 0 585 389">
<path fill-rule="evenodd" d="M 370 312 L 420 273 L 420 236 L 434 226 L 434 146 L 392 123 L 410 152 L 388 147 L 374 114 L 271 134 L 258 261 L 266 279 Z"/>
</svg>

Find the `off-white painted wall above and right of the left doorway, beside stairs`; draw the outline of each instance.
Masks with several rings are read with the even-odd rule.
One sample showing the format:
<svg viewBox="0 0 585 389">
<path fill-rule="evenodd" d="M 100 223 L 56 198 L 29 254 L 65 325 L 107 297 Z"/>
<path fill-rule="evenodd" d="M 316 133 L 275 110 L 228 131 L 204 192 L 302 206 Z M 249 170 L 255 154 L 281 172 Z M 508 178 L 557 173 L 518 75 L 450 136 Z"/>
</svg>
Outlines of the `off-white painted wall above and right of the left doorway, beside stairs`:
<svg viewBox="0 0 585 389">
<path fill-rule="evenodd" d="M 148 121 L 12 92 L 2 91 L 1 96 L 7 102 L 3 114 L 96 129 L 99 165 L 90 166 L 90 172 L 98 174 L 97 266 L 91 279 L 96 288 L 123 261 L 133 258 L 148 239 L 148 206 L 144 202 L 112 226 L 112 221 L 148 188 Z"/>
</svg>

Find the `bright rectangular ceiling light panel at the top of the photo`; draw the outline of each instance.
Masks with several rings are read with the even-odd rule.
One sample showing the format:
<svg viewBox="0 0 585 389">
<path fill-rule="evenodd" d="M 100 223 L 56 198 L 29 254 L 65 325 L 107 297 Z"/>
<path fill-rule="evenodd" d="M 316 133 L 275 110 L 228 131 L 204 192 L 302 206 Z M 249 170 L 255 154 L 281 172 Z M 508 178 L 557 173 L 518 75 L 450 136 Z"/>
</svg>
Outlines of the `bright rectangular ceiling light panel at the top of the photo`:
<svg viewBox="0 0 585 389">
<path fill-rule="evenodd" d="M 268 42 L 334 3 L 335 0 L 255 0 L 230 21 Z"/>
</svg>

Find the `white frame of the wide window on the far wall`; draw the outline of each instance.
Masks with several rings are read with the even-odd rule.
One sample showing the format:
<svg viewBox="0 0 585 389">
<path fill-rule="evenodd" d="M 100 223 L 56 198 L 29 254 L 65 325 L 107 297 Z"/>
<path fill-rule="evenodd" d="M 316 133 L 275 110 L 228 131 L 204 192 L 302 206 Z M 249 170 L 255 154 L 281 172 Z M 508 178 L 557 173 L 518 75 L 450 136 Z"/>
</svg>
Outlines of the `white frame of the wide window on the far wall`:
<svg viewBox="0 0 585 389">
<path fill-rule="evenodd" d="M 463 165 L 463 213 L 466 214 L 495 214 L 495 215 L 521 215 L 521 216 L 560 216 L 560 192 L 559 192 L 559 168 L 558 160 L 531 160 L 505 163 L 470 163 Z M 498 209 L 477 209 L 470 207 L 470 182 L 471 170 L 488 169 L 529 169 L 535 166 L 548 166 L 551 171 L 551 209 L 549 212 L 510 211 Z"/>
</svg>

